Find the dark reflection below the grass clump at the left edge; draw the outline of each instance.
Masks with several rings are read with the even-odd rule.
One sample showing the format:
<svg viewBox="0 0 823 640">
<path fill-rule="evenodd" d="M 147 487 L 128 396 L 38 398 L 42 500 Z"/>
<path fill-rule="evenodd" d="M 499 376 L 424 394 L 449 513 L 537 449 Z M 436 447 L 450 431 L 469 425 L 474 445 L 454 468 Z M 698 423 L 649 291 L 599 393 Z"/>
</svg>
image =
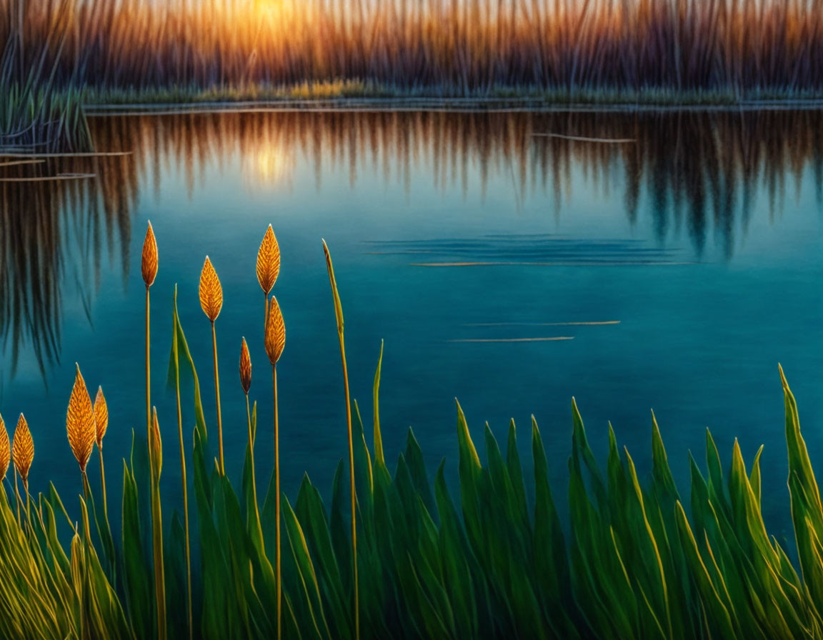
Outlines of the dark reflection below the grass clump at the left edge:
<svg viewBox="0 0 823 640">
<path fill-rule="evenodd" d="M 46 158 L 0 168 L 2 179 L 59 173 L 93 179 L 0 183 L 0 341 L 14 373 L 30 347 L 44 374 L 60 355 L 63 296 L 77 294 L 86 314 L 105 253 L 128 272 L 130 217 L 137 196 L 128 155 Z"/>
</svg>

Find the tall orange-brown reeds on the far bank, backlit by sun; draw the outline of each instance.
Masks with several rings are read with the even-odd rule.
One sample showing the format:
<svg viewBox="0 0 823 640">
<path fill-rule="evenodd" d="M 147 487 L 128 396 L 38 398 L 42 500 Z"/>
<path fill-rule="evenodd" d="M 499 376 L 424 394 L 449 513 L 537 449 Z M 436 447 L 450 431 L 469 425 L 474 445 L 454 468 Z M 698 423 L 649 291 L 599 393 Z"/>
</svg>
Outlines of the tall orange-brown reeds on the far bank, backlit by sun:
<svg viewBox="0 0 823 640">
<path fill-rule="evenodd" d="M 481 97 L 823 89 L 821 0 L 3 0 L 0 35 L 34 59 L 26 44 L 58 20 L 58 78 L 77 74 L 101 96 L 352 81 Z"/>
</svg>

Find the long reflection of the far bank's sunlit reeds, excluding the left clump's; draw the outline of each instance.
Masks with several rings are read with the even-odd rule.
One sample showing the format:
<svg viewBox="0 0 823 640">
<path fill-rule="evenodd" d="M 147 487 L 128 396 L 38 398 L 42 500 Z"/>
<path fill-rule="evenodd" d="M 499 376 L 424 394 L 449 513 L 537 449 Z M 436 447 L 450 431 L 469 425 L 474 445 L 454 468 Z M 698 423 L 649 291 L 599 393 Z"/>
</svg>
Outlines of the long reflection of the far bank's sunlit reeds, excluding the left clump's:
<svg viewBox="0 0 823 640">
<path fill-rule="evenodd" d="M 823 198 L 823 111 L 661 113 L 201 113 L 91 118 L 97 137 L 123 136 L 137 171 L 156 185 L 168 165 L 182 169 L 190 191 L 215 158 L 239 158 L 244 174 L 277 153 L 289 164 L 305 158 L 320 187 L 323 170 L 348 170 L 355 184 L 377 174 L 408 188 L 428 171 L 436 188 L 514 184 L 517 205 L 547 190 L 558 205 L 570 196 L 573 169 L 604 195 L 622 190 L 631 220 L 648 194 L 663 239 L 684 228 L 701 253 L 709 230 L 727 257 L 736 225 L 745 229 L 760 185 L 779 210 L 787 181 L 811 169 Z M 629 139 L 624 144 L 535 136 Z M 101 146 L 98 143 L 98 146 Z M 251 164 L 250 166 L 248 164 Z M 479 175 L 480 184 L 474 175 Z M 264 181 L 265 183 L 268 180 Z M 159 188 L 159 187 L 158 187 Z"/>
</svg>

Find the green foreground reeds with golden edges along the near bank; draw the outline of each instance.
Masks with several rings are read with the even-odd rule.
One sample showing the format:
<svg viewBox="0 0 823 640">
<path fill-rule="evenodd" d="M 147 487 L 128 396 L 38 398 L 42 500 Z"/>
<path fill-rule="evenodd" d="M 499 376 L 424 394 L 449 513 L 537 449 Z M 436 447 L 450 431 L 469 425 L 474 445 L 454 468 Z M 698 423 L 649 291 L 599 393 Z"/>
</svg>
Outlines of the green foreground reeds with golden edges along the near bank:
<svg viewBox="0 0 823 640">
<path fill-rule="evenodd" d="M 335 303 L 329 329 L 341 327 L 342 337 L 342 305 L 325 251 Z M 151 281 L 163 277 L 159 266 Z M 273 298 L 269 307 L 264 342 L 273 366 L 285 329 Z M 109 522 L 99 517 L 90 483 L 77 504 L 64 504 L 53 485 L 46 494 L 29 494 L 30 475 L 44 474 L 32 466 L 32 432 L 21 415 L 9 447 L 0 419 L 0 469 L 11 458 L 23 480 L 23 494 L 10 499 L 5 485 L 0 494 L 4 638 L 272 638 L 280 599 L 285 638 L 823 638 L 823 503 L 782 369 L 794 543 L 770 536 L 763 522 L 762 448 L 746 466 L 735 442 L 723 466 L 707 431 L 704 468 L 689 457 L 690 483 L 681 492 L 653 415 L 653 465 L 641 478 L 611 427 L 605 467 L 595 459 L 574 400 L 568 522 L 553 497 L 560 488 L 548 480 L 549 465 L 566 461 L 546 455 L 533 419 L 525 436 L 509 424 L 501 449 L 488 425 L 469 429 L 458 405 L 457 485 L 446 480 L 451 462 L 434 474 L 425 468 L 411 429 L 390 470 L 379 420 L 380 361 L 368 438 L 374 447 L 355 402 L 351 423 L 338 425 L 351 434 L 351 448 L 349 465 L 337 467 L 331 503 L 308 475 L 292 502 L 277 494 L 277 470 L 266 492 L 254 489 L 256 406 L 247 424 L 226 424 L 227 433 L 246 431 L 249 438 L 242 480 L 233 485 L 221 471 L 176 295 L 168 308 L 171 379 L 192 383 L 184 405 L 194 424 L 193 448 L 188 456 L 181 448 L 181 461 L 194 471 L 193 568 L 187 578 L 181 505 L 160 494 L 156 410 L 147 441 L 136 432 L 123 460 L 122 536 L 110 545 Z M 248 397 L 245 341 L 239 356 L 241 384 L 232 387 Z M 179 382 L 176 388 L 179 393 Z M 92 404 L 79 367 L 66 394 L 68 444 L 86 475 L 95 468 L 87 465 L 100 448 L 104 405 Z M 485 442 L 482 461 L 472 434 Z M 531 442 L 530 465 L 521 463 L 518 437 Z M 351 498 L 354 514 L 347 512 Z M 79 521 L 69 515 L 74 512 Z M 356 546 L 349 527 L 355 522 Z M 282 591 L 267 551 L 280 528 Z M 359 598 L 358 582 L 365 587 Z M 191 616 L 180 614 L 187 591 Z"/>
</svg>

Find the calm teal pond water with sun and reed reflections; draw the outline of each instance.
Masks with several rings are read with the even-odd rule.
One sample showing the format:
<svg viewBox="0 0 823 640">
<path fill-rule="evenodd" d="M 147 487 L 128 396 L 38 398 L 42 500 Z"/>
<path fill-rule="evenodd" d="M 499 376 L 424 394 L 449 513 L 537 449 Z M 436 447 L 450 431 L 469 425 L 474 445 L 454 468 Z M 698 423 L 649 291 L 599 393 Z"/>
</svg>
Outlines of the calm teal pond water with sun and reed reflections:
<svg viewBox="0 0 823 640">
<path fill-rule="evenodd" d="M 100 151 L 131 154 L 2 169 L 4 177 L 96 174 L 0 185 L 0 412 L 10 426 L 26 413 L 35 491 L 48 480 L 66 495 L 81 490 L 64 420 L 76 361 L 108 399 L 113 477 L 132 430 L 145 433 L 147 220 L 160 250 L 152 401 L 170 495 L 179 494 L 165 387 L 175 283 L 214 424 L 211 333 L 197 290 L 206 254 L 225 296 L 216 331 L 226 466 L 239 478 L 245 336 L 259 485 L 271 471 L 271 378 L 254 274 L 269 223 L 282 253 L 275 293 L 286 318 L 278 378 L 289 494 L 304 471 L 328 494 L 346 454 L 321 238 L 335 261 L 352 395 L 369 442 L 385 341 L 387 457 L 402 451 L 412 426 L 430 472 L 442 457 L 454 472 L 458 397 L 478 445 L 485 421 L 503 438 L 514 417 L 526 460 L 533 413 L 563 494 L 571 397 L 597 455 L 605 458 L 611 420 L 641 471 L 653 408 L 681 483 L 686 452 L 704 460 L 706 427 L 724 459 L 736 436 L 748 463 L 765 444 L 764 510 L 780 535 L 788 514 L 781 362 L 812 460 L 823 460 L 823 112 L 223 113 L 97 117 L 91 128 Z M 534 135 L 546 133 L 630 141 Z"/>
</svg>

